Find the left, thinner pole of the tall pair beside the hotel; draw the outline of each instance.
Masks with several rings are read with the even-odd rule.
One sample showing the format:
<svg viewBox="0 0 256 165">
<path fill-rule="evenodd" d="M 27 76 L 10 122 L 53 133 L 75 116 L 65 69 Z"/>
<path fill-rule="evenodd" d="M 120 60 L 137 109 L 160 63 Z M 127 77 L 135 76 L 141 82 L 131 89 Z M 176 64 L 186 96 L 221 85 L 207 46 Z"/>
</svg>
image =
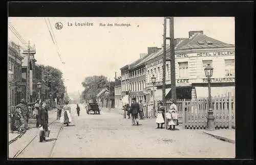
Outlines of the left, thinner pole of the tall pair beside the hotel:
<svg viewBox="0 0 256 165">
<path fill-rule="evenodd" d="M 165 100 L 165 66 L 166 65 L 166 17 L 164 17 L 163 22 L 163 80 L 162 80 L 162 98 L 163 98 L 163 105 L 166 107 L 166 100 Z M 165 113 L 165 112 L 164 112 Z M 167 129 L 167 120 L 165 118 L 165 128 Z"/>
</svg>

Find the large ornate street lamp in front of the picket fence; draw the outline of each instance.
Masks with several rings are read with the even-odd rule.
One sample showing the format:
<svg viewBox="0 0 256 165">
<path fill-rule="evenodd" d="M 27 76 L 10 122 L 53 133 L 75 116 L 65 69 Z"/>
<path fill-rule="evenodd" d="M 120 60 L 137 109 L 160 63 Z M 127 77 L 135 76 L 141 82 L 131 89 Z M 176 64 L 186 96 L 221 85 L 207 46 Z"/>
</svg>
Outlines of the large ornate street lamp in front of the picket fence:
<svg viewBox="0 0 256 165">
<path fill-rule="evenodd" d="M 208 64 L 205 68 L 204 68 L 204 72 L 205 72 L 205 76 L 208 78 L 208 115 L 207 115 L 207 129 L 208 130 L 215 130 L 215 124 L 214 124 L 214 112 L 212 111 L 211 108 L 211 95 L 210 95 L 210 77 L 212 76 L 212 72 L 213 72 L 214 68 L 212 66 L 210 66 L 210 64 Z"/>
</svg>

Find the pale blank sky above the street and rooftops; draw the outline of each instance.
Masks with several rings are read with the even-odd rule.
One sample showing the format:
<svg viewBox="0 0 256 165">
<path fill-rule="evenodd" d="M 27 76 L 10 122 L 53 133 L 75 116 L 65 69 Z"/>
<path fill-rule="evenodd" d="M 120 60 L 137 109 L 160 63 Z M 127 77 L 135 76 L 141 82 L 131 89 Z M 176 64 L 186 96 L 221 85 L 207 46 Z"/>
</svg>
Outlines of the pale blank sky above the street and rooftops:
<svg viewBox="0 0 256 165">
<path fill-rule="evenodd" d="M 51 38 L 48 19 L 57 46 Z M 68 93 L 74 93 L 83 90 L 84 78 L 103 75 L 114 80 L 115 72 L 120 76 L 120 68 L 137 60 L 140 53 L 147 53 L 147 47 L 161 48 L 163 20 L 163 17 L 9 17 L 8 23 L 27 42 L 35 44 L 38 64 L 62 71 Z M 62 23 L 62 29 L 55 28 L 56 22 Z M 93 23 L 93 26 L 75 26 L 78 23 Z M 130 26 L 115 26 L 115 23 Z M 167 20 L 167 36 L 168 23 Z M 235 41 L 234 17 L 174 17 L 175 38 L 188 38 L 188 32 L 195 30 L 226 43 Z M 9 28 L 8 39 L 24 46 Z"/>
</svg>

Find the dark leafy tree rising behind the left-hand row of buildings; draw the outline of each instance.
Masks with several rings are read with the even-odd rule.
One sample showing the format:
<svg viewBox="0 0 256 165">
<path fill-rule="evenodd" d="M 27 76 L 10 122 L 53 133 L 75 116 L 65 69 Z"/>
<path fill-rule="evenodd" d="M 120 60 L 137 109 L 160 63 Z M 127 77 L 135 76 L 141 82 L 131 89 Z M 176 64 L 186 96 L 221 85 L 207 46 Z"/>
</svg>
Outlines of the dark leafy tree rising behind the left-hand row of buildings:
<svg viewBox="0 0 256 165">
<path fill-rule="evenodd" d="M 39 65 L 39 67 L 44 70 L 46 89 L 48 90 L 49 95 L 53 92 L 53 98 L 63 98 L 66 90 L 62 80 L 63 74 L 61 70 L 45 65 Z"/>
</svg>

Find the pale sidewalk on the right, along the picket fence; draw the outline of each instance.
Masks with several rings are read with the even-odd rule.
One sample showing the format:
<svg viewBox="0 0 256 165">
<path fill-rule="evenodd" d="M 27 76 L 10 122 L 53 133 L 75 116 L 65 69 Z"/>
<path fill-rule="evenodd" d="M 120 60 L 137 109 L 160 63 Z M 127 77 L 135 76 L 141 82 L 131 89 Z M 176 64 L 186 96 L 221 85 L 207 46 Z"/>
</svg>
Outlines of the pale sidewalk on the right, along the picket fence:
<svg viewBox="0 0 256 165">
<path fill-rule="evenodd" d="M 104 111 L 109 111 L 106 108 L 103 108 Z M 123 110 L 122 109 L 118 109 L 118 108 L 111 108 L 110 112 L 114 112 L 114 113 L 118 113 L 123 115 Z M 152 125 L 152 127 L 155 126 L 155 120 L 154 119 L 144 119 L 143 123 L 146 125 Z M 177 126 L 178 129 L 182 129 L 182 124 L 180 124 L 179 126 Z M 214 130 L 214 131 L 208 131 L 205 129 L 201 130 L 204 134 L 208 134 L 212 137 L 215 137 L 219 140 L 223 140 L 225 142 L 229 142 L 234 144 L 236 142 L 236 130 L 235 129 L 218 129 L 218 130 Z"/>
</svg>

